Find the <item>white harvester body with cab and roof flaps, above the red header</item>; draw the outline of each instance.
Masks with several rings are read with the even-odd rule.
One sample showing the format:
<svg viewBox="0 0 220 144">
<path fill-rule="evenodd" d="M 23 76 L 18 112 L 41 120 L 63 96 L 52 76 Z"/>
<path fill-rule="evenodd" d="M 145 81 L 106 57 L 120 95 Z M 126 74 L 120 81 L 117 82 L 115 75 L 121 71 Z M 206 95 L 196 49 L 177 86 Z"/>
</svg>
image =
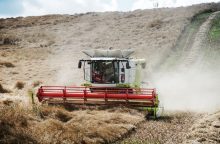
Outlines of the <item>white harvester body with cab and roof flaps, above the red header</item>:
<svg viewBox="0 0 220 144">
<path fill-rule="evenodd" d="M 83 51 L 89 59 L 79 61 L 78 68 L 83 67 L 85 86 L 96 87 L 133 87 L 141 86 L 141 68 L 144 59 L 131 59 L 131 50 L 94 50 Z"/>
</svg>

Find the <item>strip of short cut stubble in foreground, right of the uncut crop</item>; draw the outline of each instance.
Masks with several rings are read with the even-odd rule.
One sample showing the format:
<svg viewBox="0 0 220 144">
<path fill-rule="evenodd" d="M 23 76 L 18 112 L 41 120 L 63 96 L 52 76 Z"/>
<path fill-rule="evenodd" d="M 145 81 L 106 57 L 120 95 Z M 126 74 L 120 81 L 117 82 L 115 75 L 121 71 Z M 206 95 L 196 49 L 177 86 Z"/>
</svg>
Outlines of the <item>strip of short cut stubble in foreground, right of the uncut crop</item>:
<svg viewBox="0 0 220 144">
<path fill-rule="evenodd" d="M 144 121 L 137 132 L 121 144 L 181 143 L 184 141 L 198 114 L 189 112 L 167 113 L 158 120 Z"/>
</svg>

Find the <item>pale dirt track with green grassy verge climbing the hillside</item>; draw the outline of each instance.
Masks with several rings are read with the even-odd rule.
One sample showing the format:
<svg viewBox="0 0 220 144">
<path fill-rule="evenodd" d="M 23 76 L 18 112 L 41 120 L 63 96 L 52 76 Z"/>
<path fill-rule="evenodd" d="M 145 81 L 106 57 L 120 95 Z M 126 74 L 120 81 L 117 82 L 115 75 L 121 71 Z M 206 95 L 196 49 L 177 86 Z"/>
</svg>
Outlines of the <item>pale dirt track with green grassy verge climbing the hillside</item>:
<svg viewBox="0 0 220 144">
<path fill-rule="evenodd" d="M 211 22 L 218 13 L 203 14 L 202 18 L 195 17 L 192 23 L 185 27 L 170 55 L 160 64 L 159 71 L 190 69 L 193 66 L 201 67 L 207 63 L 204 57 L 212 51 L 212 48 L 207 44 L 207 35 Z"/>
</svg>

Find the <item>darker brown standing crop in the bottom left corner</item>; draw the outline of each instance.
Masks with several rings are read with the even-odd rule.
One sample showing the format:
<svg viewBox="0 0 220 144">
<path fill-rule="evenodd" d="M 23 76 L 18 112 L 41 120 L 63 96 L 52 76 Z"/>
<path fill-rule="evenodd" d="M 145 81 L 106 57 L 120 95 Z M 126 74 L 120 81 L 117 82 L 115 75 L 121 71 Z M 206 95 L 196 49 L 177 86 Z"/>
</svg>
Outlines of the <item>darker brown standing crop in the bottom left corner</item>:
<svg viewBox="0 0 220 144">
<path fill-rule="evenodd" d="M 0 111 L 0 143 L 36 143 L 27 129 L 26 110 L 15 103 L 3 102 Z"/>
</svg>

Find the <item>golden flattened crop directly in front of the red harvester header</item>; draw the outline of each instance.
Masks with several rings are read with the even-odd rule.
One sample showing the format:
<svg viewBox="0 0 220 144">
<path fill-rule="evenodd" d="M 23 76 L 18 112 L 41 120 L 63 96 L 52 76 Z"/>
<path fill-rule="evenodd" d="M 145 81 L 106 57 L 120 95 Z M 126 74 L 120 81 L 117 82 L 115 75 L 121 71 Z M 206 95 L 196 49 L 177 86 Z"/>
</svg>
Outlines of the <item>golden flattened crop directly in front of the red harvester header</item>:
<svg viewBox="0 0 220 144">
<path fill-rule="evenodd" d="M 68 112 L 58 107 L 42 107 L 41 116 L 44 121 L 36 125 L 34 137 L 41 134 L 39 141 L 46 143 L 110 143 L 123 138 L 143 121 L 137 112 L 136 115 L 96 110 Z M 54 138 L 56 135 L 59 138 Z"/>
</svg>

